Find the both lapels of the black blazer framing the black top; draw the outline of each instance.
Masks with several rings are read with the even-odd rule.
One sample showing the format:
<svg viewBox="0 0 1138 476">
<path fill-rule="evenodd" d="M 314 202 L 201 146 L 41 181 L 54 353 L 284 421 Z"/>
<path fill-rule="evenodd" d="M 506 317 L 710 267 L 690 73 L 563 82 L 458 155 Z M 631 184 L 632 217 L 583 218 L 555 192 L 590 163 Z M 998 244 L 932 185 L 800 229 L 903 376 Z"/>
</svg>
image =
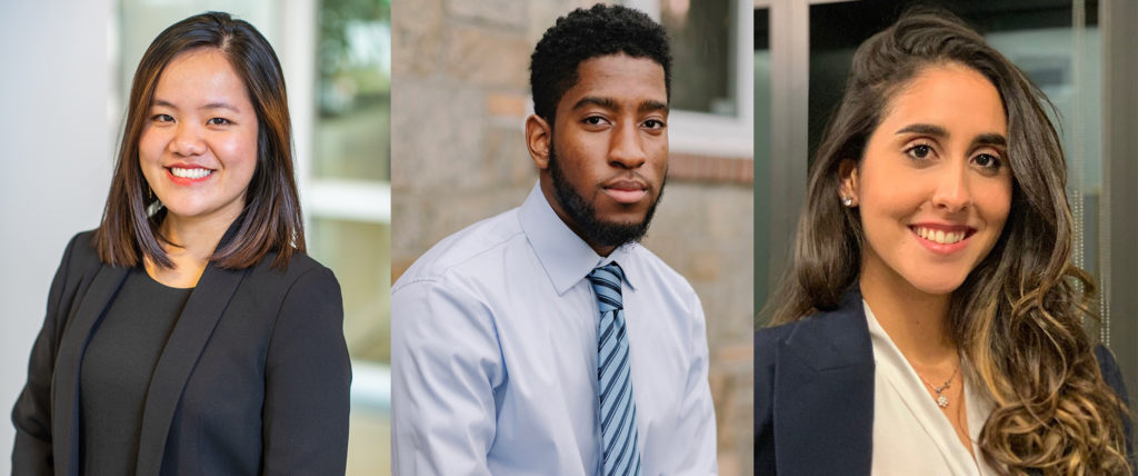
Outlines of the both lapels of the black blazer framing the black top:
<svg viewBox="0 0 1138 476">
<path fill-rule="evenodd" d="M 241 221 L 238 218 L 230 224 L 218 247 L 236 236 Z M 69 311 L 56 360 L 51 399 L 51 434 L 63 438 L 53 444 L 57 474 L 79 474 L 79 377 L 83 353 L 91 339 L 92 329 L 106 314 L 114 296 L 126 281 L 129 271 L 124 266 L 99 266 L 90 286 L 74 301 L 79 304 Z M 166 436 L 182 389 L 246 271 L 225 270 L 211 263 L 190 294 L 158 358 L 147 389 L 135 469 L 138 475 L 157 475 L 162 469 Z"/>
</svg>

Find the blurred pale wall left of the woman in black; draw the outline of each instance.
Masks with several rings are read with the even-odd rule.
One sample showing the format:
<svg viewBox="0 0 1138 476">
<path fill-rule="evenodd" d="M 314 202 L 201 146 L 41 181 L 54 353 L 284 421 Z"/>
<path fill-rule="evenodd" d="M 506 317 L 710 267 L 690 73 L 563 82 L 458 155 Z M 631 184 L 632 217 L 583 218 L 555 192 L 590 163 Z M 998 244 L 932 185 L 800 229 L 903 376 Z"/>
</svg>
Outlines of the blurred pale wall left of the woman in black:
<svg viewBox="0 0 1138 476">
<path fill-rule="evenodd" d="M 110 182 L 112 5 L 0 3 L 0 474 L 51 277 L 67 240 L 99 224 Z"/>
</svg>

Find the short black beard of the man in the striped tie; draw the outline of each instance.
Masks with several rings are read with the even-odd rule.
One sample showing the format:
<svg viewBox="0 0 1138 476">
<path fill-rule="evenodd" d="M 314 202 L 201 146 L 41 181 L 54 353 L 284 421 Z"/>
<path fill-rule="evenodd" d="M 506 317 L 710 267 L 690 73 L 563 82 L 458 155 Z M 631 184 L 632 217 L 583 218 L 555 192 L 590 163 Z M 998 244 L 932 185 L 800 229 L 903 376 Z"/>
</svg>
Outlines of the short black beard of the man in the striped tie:
<svg viewBox="0 0 1138 476">
<path fill-rule="evenodd" d="M 644 213 L 644 220 L 640 223 L 613 223 L 603 221 L 596 218 L 596 208 L 593 204 L 582 197 L 572 188 L 572 184 L 566 180 L 564 174 L 562 174 L 561 169 L 558 166 L 556 155 L 553 153 L 553 145 L 550 143 L 550 178 L 553 179 L 553 189 L 558 198 L 558 203 L 561 204 L 561 210 L 569 215 L 569 220 L 572 221 L 575 231 L 585 239 L 585 241 L 591 245 L 596 246 L 611 246 L 618 247 L 628 243 L 640 241 L 648 233 L 648 225 L 652 221 L 652 214 L 655 213 L 655 206 L 660 204 L 660 198 L 663 197 L 663 186 L 667 183 L 667 177 L 660 183 L 660 191 L 655 196 L 655 200 L 652 205 L 648 207 L 648 212 Z"/>
</svg>

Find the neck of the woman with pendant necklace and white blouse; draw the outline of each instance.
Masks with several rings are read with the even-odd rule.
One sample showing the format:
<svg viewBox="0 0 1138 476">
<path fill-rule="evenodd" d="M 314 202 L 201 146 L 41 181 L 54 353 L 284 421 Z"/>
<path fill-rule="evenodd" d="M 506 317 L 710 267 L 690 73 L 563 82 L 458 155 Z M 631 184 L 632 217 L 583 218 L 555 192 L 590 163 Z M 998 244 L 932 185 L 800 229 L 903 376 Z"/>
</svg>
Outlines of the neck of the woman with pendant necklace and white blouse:
<svg viewBox="0 0 1138 476">
<path fill-rule="evenodd" d="M 948 322 L 950 295 L 924 293 L 884 265 L 863 266 L 859 286 L 877 323 L 909 364 L 956 366 L 957 345 Z"/>
</svg>

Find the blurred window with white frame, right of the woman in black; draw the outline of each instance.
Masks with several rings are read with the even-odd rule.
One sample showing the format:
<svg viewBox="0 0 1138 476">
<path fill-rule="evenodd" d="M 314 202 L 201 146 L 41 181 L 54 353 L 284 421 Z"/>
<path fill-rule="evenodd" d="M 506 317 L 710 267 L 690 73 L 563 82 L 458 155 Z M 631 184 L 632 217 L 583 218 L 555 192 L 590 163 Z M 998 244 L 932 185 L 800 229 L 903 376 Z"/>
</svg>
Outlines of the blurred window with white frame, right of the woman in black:
<svg viewBox="0 0 1138 476">
<path fill-rule="evenodd" d="M 310 253 L 344 295 L 352 356 L 348 475 L 390 471 L 390 0 L 316 7 Z"/>
</svg>

